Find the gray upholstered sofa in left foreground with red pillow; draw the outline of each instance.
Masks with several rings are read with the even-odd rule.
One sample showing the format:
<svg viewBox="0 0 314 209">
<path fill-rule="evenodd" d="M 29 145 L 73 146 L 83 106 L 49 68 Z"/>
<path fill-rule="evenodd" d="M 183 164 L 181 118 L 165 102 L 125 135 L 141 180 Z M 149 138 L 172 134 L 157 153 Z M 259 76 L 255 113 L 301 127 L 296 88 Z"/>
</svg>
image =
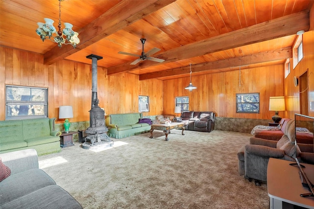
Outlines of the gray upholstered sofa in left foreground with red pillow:
<svg viewBox="0 0 314 209">
<path fill-rule="evenodd" d="M 35 149 L 0 154 L 0 158 L 11 170 L 11 175 L 0 182 L 0 209 L 82 208 L 67 191 L 39 169 Z"/>
</svg>

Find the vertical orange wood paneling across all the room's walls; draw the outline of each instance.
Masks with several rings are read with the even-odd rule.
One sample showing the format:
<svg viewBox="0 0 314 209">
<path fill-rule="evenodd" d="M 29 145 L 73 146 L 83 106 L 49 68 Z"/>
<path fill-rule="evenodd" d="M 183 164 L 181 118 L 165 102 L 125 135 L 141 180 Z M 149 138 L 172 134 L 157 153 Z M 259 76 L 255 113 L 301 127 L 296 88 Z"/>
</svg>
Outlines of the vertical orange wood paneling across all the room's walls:
<svg viewBox="0 0 314 209">
<path fill-rule="evenodd" d="M 197 76 L 192 73 L 192 84 L 197 87 L 192 92 L 184 90 L 189 77 L 139 81 L 138 75 L 108 76 L 106 69 L 98 68 L 100 107 L 106 114 L 138 112 L 138 95 L 148 95 L 150 112 L 144 116 L 174 114 L 175 96 L 188 95 L 190 110 L 214 111 L 220 117 L 269 119 L 274 115 L 268 110 L 269 96 L 285 95 L 287 110 L 279 115 L 293 118 L 294 113 L 300 113 L 299 90 L 293 86 L 293 76 L 307 71 L 309 102 L 314 101 L 313 30 L 303 34 L 303 47 L 304 58 L 286 79 L 284 65 Z M 74 118 L 70 121 L 88 121 L 91 79 L 91 65 L 63 60 L 47 66 L 41 54 L 0 47 L 0 120 L 5 118 L 5 84 L 9 84 L 49 88 L 49 117 L 58 118 L 59 106 L 72 105 Z M 260 113 L 237 114 L 236 93 L 260 93 Z M 309 108 L 309 115 L 314 116 L 314 110 Z"/>
</svg>

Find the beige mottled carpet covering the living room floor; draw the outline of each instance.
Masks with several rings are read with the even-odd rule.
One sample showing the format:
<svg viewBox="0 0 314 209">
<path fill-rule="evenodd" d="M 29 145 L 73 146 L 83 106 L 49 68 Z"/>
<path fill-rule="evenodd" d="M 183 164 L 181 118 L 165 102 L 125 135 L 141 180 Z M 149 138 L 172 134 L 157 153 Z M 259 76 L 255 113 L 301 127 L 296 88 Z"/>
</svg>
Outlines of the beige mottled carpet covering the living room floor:
<svg viewBox="0 0 314 209">
<path fill-rule="evenodd" d="M 75 146 L 39 157 L 86 209 L 267 209 L 267 186 L 238 175 L 238 149 L 250 134 L 172 130 L 114 139 L 114 147 Z"/>
</svg>

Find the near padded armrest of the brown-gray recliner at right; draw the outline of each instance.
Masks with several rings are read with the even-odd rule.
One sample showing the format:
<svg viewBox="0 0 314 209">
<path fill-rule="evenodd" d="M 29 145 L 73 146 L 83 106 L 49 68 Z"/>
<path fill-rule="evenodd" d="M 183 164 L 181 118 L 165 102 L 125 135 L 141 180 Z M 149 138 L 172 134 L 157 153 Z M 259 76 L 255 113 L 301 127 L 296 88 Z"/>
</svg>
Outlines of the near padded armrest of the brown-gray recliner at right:
<svg viewBox="0 0 314 209">
<path fill-rule="evenodd" d="M 262 145 L 246 144 L 244 153 L 245 160 L 248 155 L 255 155 L 263 158 L 283 158 L 285 156 L 285 151 Z"/>
</svg>

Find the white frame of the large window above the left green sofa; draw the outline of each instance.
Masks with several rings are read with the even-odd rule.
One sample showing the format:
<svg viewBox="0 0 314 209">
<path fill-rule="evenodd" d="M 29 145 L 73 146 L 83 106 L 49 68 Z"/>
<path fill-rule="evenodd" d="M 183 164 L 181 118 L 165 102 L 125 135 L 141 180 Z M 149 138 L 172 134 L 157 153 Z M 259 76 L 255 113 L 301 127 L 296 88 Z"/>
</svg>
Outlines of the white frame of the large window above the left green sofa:
<svg viewBox="0 0 314 209">
<path fill-rule="evenodd" d="M 44 91 L 44 98 L 41 101 L 36 101 L 36 100 L 31 100 L 31 101 L 23 101 L 22 100 L 22 96 L 26 96 L 26 95 L 22 95 L 22 94 L 16 94 L 14 96 L 21 96 L 21 100 L 9 100 L 8 97 L 8 91 L 11 89 L 13 90 L 13 88 L 20 88 L 22 90 L 20 90 L 21 92 L 23 91 L 29 91 L 30 95 L 28 96 L 35 96 L 35 94 L 32 94 L 32 91 L 34 90 L 43 90 Z M 12 92 L 12 91 L 11 91 Z M 13 98 L 12 98 L 13 99 Z M 12 115 L 9 114 L 9 106 L 32 106 L 34 107 L 35 105 L 43 105 L 43 114 L 42 115 Z M 29 107 L 28 107 L 29 109 Z M 31 108 L 33 109 L 33 108 Z M 29 112 L 29 110 L 27 110 Z M 20 112 L 20 107 L 19 107 L 19 112 Z M 44 87 L 30 87 L 30 86 L 15 86 L 15 85 L 5 85 L 5 120 L 14 120 L 14 119 L 31 119 L 31 118 L 45 118 L 48 117 L 48 88 L 44 88 Z"/>
</svg>

